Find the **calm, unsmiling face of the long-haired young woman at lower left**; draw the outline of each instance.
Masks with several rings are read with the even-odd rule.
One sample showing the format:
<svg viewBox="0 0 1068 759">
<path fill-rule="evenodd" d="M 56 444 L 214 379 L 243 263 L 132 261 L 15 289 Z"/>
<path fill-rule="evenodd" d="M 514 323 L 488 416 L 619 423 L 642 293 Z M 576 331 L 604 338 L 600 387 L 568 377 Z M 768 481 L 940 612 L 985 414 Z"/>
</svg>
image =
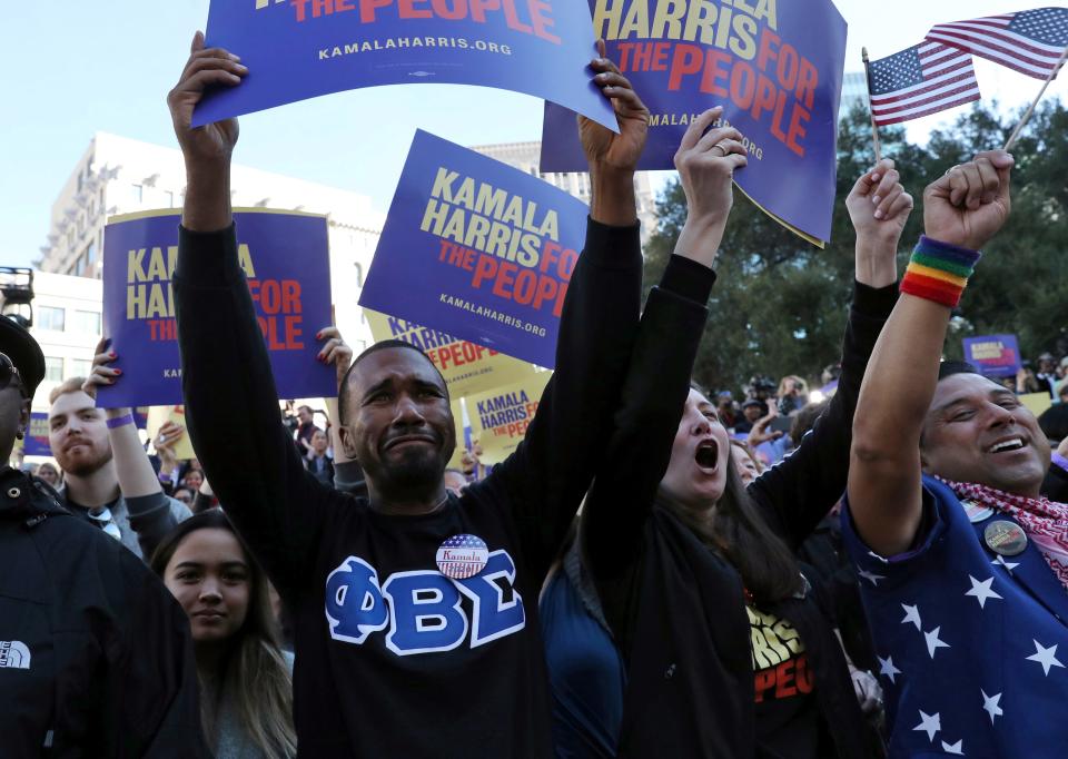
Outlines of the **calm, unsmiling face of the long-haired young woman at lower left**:
<svg viewBox="0 0 1068 759">
<path fill-rule="evenodd" d="M 251 576 L 248 558 L 234 533 L 205 528 L 178 544 L 164 571 L 164 584 L 189 617 L 192 640 L 217 642 L 245 624 Z"/>
</svg>

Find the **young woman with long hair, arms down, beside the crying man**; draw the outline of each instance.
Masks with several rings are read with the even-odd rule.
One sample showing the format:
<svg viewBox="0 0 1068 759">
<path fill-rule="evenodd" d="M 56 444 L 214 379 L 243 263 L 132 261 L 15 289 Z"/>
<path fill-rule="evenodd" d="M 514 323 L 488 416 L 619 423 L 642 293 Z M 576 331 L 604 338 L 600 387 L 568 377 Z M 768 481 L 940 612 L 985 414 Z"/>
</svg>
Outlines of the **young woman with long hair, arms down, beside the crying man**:
<svg viewBox="0 0 1068 759">
<path fill-rule="evenodd" d="M 152 570 L 189 617 L 205 736 L 218 759 L 296 756 L 293 657 L 281 650 L 267 576 L 218 509 L 186 520 Z"/>
</svg>

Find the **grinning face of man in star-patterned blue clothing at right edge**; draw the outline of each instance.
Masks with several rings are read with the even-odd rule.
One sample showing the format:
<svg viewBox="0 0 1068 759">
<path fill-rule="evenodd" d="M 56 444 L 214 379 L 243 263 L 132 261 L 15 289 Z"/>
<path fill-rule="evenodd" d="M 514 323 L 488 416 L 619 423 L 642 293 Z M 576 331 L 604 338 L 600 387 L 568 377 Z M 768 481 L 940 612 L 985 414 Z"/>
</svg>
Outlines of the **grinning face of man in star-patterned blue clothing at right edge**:
<svg viewBox="0 0 1068 759">
<path fill-rule="evenodd" d="M 930 474 L 1028 496 L 1038 495 L 1050 457 L 1035 415 L 978 374 L 938 383 L 920 450 Z"/>
</svg>

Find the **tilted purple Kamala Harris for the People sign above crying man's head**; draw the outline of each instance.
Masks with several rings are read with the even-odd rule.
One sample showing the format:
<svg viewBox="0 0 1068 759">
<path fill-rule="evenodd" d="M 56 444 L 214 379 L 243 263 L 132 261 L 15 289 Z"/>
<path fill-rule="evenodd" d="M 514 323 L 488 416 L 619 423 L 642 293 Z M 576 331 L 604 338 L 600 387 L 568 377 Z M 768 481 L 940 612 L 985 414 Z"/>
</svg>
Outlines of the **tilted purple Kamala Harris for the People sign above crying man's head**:
<svg viewBox="0 0 1068 759">
<path fill-rule="evenodd" d="M 421 130 L 359 305 L 551 368 L 587 214 L 567 193 Z"/>
</svg>

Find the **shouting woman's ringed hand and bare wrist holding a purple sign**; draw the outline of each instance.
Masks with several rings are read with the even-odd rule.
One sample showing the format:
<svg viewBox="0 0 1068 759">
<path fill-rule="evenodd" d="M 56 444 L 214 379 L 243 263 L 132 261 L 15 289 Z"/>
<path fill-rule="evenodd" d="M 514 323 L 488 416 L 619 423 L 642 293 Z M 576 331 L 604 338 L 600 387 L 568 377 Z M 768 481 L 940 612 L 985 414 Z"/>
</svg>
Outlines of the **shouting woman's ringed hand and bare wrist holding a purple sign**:
<svg viewBox="0 0 1068 759">
<path fill-rule="evenodd" d="M 706 266 L 715 258 L 734 205 L 734 171 L 749 165 L 738 129 L 721 127 L 704 134 L 722 114 L 720 107 L 704 111 L 686 129 L 675 152 L 688 210 L 675 254 Z"/>
</svg>

